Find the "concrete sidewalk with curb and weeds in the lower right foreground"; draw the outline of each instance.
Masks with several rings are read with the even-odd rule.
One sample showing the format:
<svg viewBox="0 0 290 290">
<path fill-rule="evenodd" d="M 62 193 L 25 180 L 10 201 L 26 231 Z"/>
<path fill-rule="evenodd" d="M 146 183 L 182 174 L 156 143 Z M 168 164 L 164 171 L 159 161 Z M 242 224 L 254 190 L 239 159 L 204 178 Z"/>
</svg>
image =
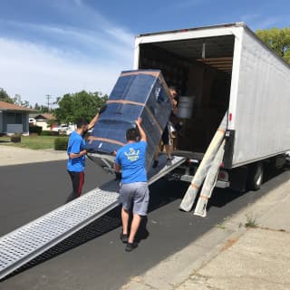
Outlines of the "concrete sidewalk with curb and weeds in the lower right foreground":
<svg viewBox="0 0 290 290">
<path fill-rule="evenodd" d="M 121 289 L 290 289 L 287 174 L 287 182 Z"/>
</svg>

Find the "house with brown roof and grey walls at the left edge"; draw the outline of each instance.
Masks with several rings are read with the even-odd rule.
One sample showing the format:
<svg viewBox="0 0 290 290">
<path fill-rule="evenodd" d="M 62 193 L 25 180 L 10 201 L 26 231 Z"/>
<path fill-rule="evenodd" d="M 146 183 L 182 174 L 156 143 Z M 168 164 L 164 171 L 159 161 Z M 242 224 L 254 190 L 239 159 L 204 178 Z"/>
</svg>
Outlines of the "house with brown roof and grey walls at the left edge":
<svg viewBox="0 0 290 290">
<path fill-rule="evenodd" d="M 34 110 L 0 101 L 0 133 L 29 133 L 29 113 Z"/>
</svg>

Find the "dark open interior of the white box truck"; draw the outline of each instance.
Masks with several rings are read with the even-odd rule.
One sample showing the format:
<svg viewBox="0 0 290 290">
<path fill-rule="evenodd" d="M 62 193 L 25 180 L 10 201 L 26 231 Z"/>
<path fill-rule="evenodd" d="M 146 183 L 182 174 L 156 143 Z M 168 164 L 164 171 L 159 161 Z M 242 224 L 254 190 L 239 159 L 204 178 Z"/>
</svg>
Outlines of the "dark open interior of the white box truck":
<svg viewBox="0 0 290 290">
<path fill-rule="evenodd" d="M 231 73 L 168 52 L 154 43 L 140 45 L 139 67 L 160 69 L 181 96 L 195 97 L 191 118 L 176 120 L 183 123 L 176 149 L 204 153 L 227 111 Z"/>
</svg>

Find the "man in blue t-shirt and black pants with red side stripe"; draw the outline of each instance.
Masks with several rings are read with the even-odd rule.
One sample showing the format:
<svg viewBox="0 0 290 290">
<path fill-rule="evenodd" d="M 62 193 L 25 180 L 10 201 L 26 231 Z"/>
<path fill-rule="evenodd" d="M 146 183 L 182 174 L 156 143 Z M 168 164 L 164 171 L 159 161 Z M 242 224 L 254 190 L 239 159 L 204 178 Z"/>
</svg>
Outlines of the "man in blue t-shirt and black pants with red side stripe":
<svg viewBox="0 0 290 290">
<path fill-rule="evenodd" d="M 67 155 L 69 160 L 67 161 L 67 171 L 72 179 L 73 183 L 73 192 L 67 198 L 67 202 L 73 200 L 74 198 L 78 198 L 82 195 L 82 186 L 84 182 L 84 167 L 85 167 L 85 154 L 87 153 L 84 150 L 84 140 L 83 135 L 86 131 L 92 129 L 95 123 L 99 119 L 99 115 L 102 111 L 105 110 L 105 107 L 101 108 L 99 113 L 97 113 L 92 121 L 88 124 L 84 119 L 79 119 L 76 121 L 76 131 L 70 136 L 68 147 L 67 147 Z"/>
</svg>

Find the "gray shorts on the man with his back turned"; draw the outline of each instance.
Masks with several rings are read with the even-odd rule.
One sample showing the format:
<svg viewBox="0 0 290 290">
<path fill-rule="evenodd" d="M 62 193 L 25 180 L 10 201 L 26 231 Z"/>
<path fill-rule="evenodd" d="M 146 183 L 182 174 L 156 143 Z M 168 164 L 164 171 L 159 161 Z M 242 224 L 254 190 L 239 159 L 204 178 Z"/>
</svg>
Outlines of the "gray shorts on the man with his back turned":
<svg viewBox="0 0 290 290">
<path fill-rule="evenodd" d="M 121 184 L 121 204 L 125 210 L 130 210 L 133 204 L 133 214 L 147 216 L 149 204 L 149 189 L 147 182 Z"/>
</svg>

